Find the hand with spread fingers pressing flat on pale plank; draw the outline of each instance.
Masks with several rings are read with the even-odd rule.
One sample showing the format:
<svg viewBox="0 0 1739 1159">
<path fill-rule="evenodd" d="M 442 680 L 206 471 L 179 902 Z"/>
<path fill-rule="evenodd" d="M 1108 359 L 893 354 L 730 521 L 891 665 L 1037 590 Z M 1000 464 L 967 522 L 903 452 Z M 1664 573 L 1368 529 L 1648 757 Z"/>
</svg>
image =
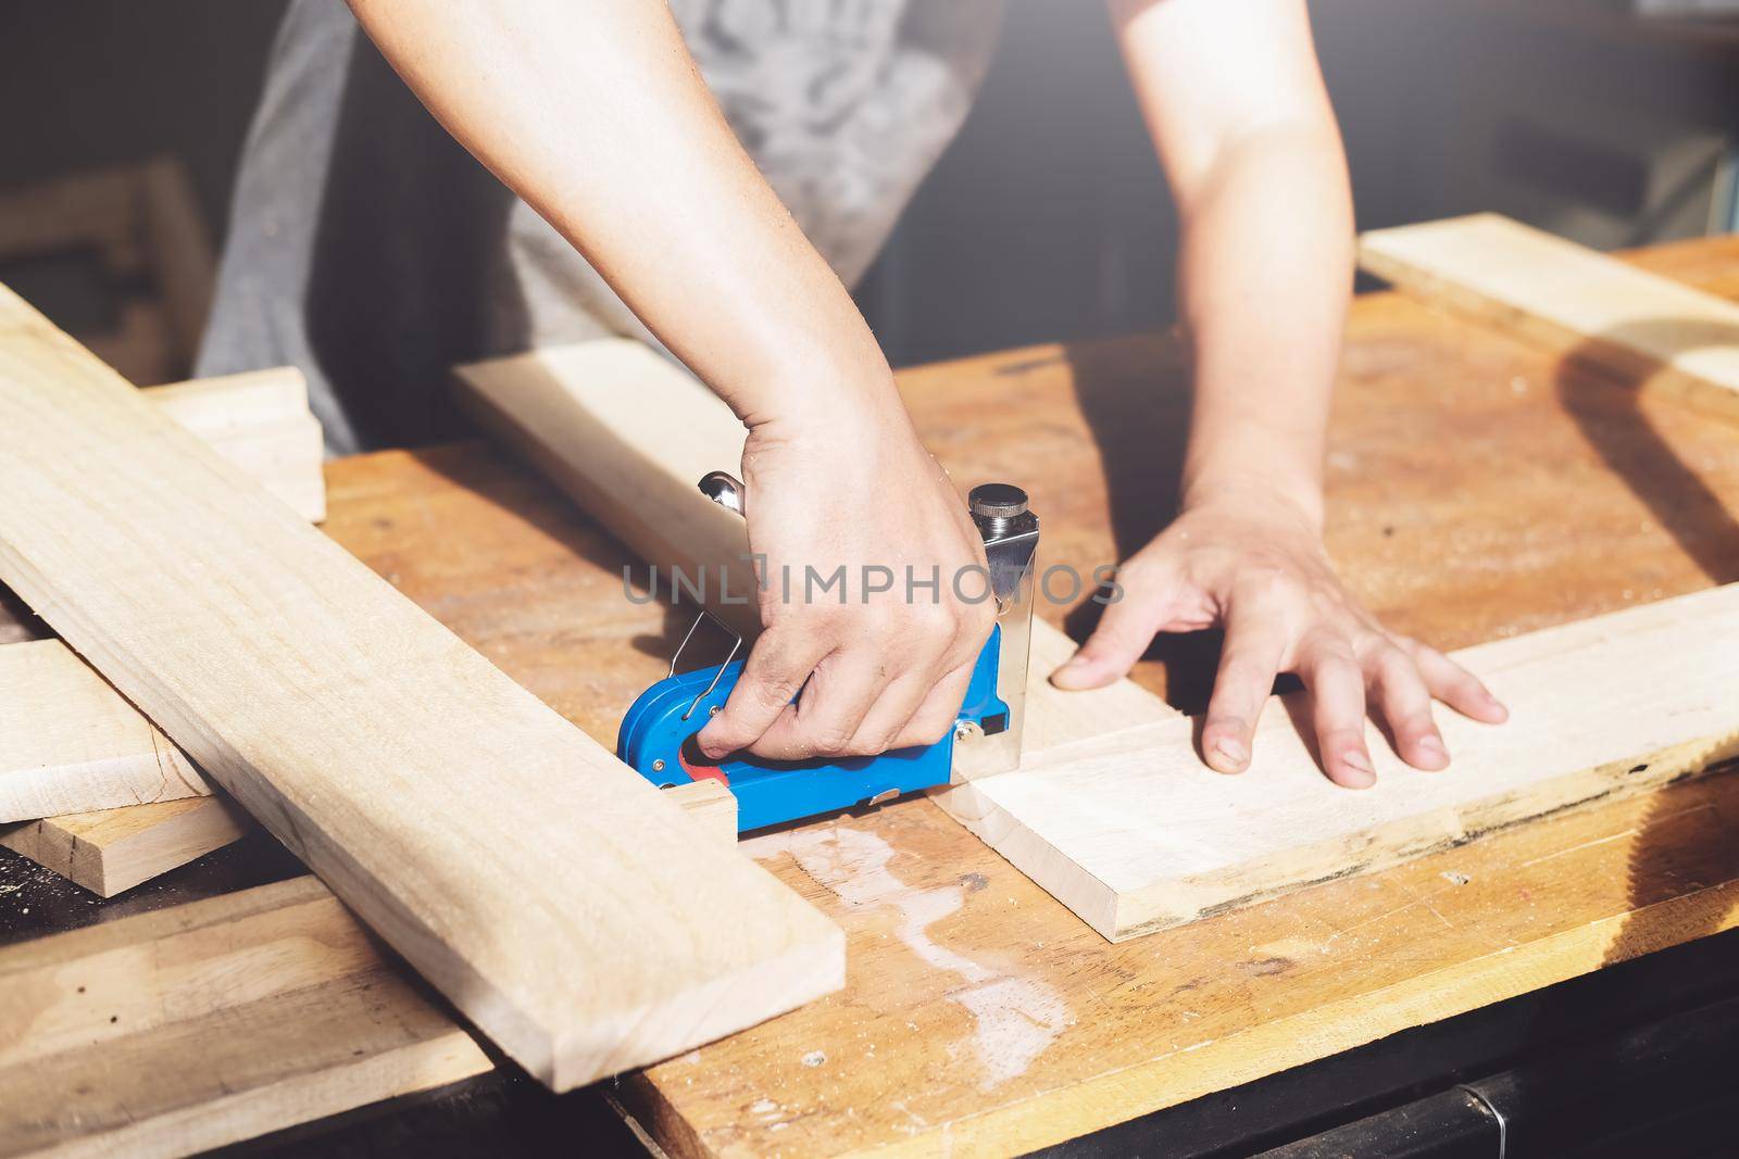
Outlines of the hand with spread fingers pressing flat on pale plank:
<svg viewBox="0 0 1739 1159">
<path fill-rule="evenodd" d="M 1376 784 L 1365 747 L 1367 700 L 1414 768 L 1440 770 L 1449 749 L 1431 719 L 1442 700 L 1478 721 L 1508 712 L 1442 652 L 1383 629 L 1336 577 L 1315 521 L 1287 497 L 1245 493 L 1186 506 L 1120 570 L 1123 598 L 1052 674 L 1059 688 L 1097 688 L 1129 672 L 1155 632 L 1226 629 L 1202 728 L 1202 756 L 1223 773 L 1250 763 L 1256 719 L 1278 672 L 1309 692 L 1329 778 Z"/>
</svg>

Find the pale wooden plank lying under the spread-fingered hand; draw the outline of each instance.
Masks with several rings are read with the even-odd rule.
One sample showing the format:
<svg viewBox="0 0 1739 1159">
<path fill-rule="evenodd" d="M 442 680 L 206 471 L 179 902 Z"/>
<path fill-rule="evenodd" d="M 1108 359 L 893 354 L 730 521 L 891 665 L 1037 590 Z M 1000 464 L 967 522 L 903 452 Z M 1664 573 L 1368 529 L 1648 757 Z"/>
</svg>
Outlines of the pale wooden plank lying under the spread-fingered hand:
<svg viewBox="0 0 1739 1159">
<path fill-rule="evenodd" d="M 1221 777 L 1177 718 L 1050 749 L 969 791 L 965 818 L 1113 940 L 1367 872 L 1739 754 L 1739 586 L 1464 648 L 1511 711 L 1442 714 L 1456 775 L 1405 766 L 1370 730 L 1377 785 L 1318 773 L 1303 695 L 1271 700 L 1254 759 Z M 974 801 L 976 803 L 976 801 Z M 960 815 L 962 808 L 949 811 Z M 1017 825 L 1017 841 L 1009 848 Z"/>
</svg>

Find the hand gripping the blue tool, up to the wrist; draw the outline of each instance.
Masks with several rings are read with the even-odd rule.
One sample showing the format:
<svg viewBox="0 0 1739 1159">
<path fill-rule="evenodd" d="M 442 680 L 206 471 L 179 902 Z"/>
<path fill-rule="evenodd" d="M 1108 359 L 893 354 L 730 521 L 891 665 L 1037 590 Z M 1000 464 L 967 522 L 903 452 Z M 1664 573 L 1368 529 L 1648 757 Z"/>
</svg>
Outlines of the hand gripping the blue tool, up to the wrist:
<svg viewBox="0 0 1739 1159">
<path fill-rule="evenodd" d="M 756 426 L 743 481 L 765 631 L 701 752 L 803 759 L 939 740 L 996 608 L 969 603 L 983 573 L 956 589 L 962 568 L 984 566 L 983 539 L 904 410 Z M 843 587 L 823 587 L 838 568 Z M 908 591 L 908 575 L 922 586 Z"/>
</svg>

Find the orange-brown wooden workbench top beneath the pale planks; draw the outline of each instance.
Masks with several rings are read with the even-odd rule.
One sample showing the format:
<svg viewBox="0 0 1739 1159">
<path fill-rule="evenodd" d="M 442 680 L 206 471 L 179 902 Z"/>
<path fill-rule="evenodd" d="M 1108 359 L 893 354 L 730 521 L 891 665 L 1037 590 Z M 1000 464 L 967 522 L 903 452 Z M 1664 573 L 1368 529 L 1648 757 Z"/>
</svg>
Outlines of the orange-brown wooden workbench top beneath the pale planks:
<svg viewBox="0 0 1739 1159">
<path fill-rule="evenodd" d="M 1739 297 L 1736 242 L 1640 261 Z M 1047 563 L 1090 573 L 1170 511 L 1188 401 L 1167 339 L 901 386 L 956 481 L 1029 488 Z M 329 487 L 334 539 L 600 740 L 687 627 L 631 603 L 623 551 L 483 445 L 334 462 Z M 1398 295 L 1358 301 L 1329 547 L 1393 627 L 1454 648 L 1732 582 L 1732 513 L 1739 429 Z M 1214 646 L 1172 641 L 1137 679 L 1200 704 Z M 1031 1149 L 1725 930 L 1736 825 L 1739 778 L 1716 775 L 1109 945 L 904 801 L 746 846 L 847 930 L 847 989 L 619 1095 L 675 1154 Z"/>
</svg>

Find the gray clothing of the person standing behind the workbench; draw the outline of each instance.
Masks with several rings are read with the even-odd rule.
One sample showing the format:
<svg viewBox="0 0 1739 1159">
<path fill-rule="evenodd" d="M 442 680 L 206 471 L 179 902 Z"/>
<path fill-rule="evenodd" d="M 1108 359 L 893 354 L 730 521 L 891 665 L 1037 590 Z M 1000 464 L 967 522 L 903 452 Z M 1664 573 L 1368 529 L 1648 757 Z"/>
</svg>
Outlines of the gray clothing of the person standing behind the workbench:
<svg viewBox="0 0 1739 1159">
<path fill-rule="evenodd" d="M 671 9 L 730 127 L 854 285 L 965 118 L 1002 0 Z M 301 367 L 327 450 L 353 454 L 464 433 L 447 394 L 457 361 L 600 335 L 663 349 L 447 136 L 341 0 L 296 0 L 249 130 L 195 374 Z"/>
</svg>

